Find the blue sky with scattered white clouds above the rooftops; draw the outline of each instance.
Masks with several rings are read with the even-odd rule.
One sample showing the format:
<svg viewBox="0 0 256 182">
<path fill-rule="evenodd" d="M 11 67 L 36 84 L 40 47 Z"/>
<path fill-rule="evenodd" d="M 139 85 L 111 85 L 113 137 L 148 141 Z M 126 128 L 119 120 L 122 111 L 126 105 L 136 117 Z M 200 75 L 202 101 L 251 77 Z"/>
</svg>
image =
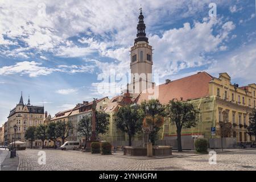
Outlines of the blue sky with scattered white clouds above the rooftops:
<svg viewBox="0 0 256 182">
<path fill-rule="evenodd" d="M 208 5 L 217 5 L 210 18 Z M 255 0 L 0 1 L 0 124 L 23 91 L 52 115 L 93 97 L 98 75 L 129 73 L 139 7 L 154 48 L 153 72 L 166 78 L 228 72 L 256 82 Z"/>
</svg>

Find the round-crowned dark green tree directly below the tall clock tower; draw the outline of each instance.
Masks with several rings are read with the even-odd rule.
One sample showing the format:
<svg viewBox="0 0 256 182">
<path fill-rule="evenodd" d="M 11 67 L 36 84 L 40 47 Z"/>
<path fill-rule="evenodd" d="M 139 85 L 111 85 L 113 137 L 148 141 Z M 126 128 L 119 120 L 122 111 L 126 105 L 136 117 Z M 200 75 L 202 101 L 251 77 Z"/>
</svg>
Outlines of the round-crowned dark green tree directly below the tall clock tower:
<svg viewBox="0 0 256 182">
<path fill-rule="evenodd" d="M 119 108 L 115 113 L 116 126 L 129 136 L 129 146 L 131 138 L 142 130 L 143 110 L 137 105 L 126 105 Z"/>
</svg>

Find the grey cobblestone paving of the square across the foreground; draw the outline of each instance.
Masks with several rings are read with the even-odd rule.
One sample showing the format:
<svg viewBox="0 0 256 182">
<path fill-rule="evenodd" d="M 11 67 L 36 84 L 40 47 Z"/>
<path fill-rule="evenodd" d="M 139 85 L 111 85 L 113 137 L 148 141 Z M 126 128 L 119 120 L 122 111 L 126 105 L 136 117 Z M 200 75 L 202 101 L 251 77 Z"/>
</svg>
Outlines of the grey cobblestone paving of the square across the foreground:
<svg viewBox="0 0 256 182">
<path fill-rule="evenodd" d="M 122 152 L 113 155 L 82 153 L 81 151 L 44 150 L 46 164 L 38 164 L 40 150 L 18 151 L 19 170 L 253 170 L 256 171 L 256 150 L 241 150 L 217 154 L 217 164 L 209 164 L 209 155 L 164 159 L 124 158 Z"/>
</svg>

